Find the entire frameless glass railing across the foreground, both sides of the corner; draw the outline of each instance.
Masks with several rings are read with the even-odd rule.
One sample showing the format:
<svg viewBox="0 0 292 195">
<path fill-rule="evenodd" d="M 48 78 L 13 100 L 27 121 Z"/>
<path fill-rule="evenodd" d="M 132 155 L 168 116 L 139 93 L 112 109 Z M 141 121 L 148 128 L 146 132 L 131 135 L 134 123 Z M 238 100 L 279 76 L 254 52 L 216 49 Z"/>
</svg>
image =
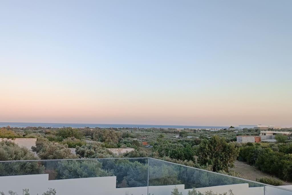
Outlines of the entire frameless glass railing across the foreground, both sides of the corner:
<svg viewBox="0 0 292 195">
<path fill-rule="evenodd" d="M 154 158 L 104 158 L 0 161 L 1 193 L 291 195 L 292 191 Z"/>
</svg>

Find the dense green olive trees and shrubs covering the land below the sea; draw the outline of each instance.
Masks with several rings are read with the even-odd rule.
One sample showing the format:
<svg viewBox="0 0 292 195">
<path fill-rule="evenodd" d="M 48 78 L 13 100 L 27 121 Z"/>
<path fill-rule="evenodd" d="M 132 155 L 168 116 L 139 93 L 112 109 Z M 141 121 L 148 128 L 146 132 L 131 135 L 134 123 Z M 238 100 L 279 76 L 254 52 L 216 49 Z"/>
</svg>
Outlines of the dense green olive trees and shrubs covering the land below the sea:
<svg viewBox="0 0 292 195">
<path fill-rule="evenodd" d="M 0 158 L 7 160 L 24 159 L 78 159 L 78 158 L 133 158 L 153 157 L 168 162 L 190 167 L 211 170 L 239 177 L 230 168 L 236 159 L 257 166 L 283 180 L 291 181 L 292 144 L 288 137 L 277 136 L 276 144 L 236 144 L 236 135 L 258 135 L 258 130 L 244 129 L 242 132 L 233 130 L 178 131 L 176 129 L 131 129 L 131 128 L 10 128 L 0 129 L 0 137 L 36 137 L 36 146 L 32 147 L 37 157 L 27 149 L 20 148 L 11 142 L 1 142 Z M 174 137 L 178 135 L 177 137 Z M 190 137 L 188 137 L 190 136 Z M 151 144 L 153 149 L 145 149 L 143 142 Z M 124 154 L 114 154 L 110 148 L 134 148 L 134 151 Z M 74 148 L 75 150 L 72 150 Z M 75 152 L 72 152 L 75 151 Z M 11 155 L 13 153 L 14 155 Z M 30 173 L 49 172 L 51 179 L 66 179 L 96 176 L 117 176 L 117 187 L 145 186 L 147 182 L 147 162 L 145 159 L 120 159 L 99 161 L 54 161 L 54 163 L 19 164 L 3 167 L 0 164 L 1 175 L 22 175 Z M 2 169 L 1 169 L 2 168 Z M 7 169 L 8 171 L 6 171 Z M 208 185 L 230 184 L 230 177 L 222 178 L 215 175 L 212 180 L 206 172 L 188 170 L 183 175 L 171 163 L 152 164 L 150 173 L 157 180 L 150 180 L 152 185 L 180 184 L 186 187 L 206 187 Z M 187 168 L 186 168 L 187 169 Z M 12 171 L 10 173 L 9 171 Z M 192 178 L 197 178 L 192 181 Z M 261 182 L 273 181 L 259 179 Z M 192 181 L 192 182 L 189 182 Z M 274 182 L 275 183 L 275 182 Z"/>
</svg>

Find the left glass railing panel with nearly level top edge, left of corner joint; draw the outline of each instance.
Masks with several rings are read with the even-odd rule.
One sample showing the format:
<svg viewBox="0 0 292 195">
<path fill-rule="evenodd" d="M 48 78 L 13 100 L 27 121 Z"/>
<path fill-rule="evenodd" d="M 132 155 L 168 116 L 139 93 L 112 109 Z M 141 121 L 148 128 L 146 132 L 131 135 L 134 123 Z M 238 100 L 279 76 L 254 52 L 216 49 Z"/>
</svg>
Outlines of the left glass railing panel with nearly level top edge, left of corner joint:
<svg viewBox="0 0 292 195">
<path fill-rule="evenodd" d="M 0 192 L 147 195 L 148 158 L 1 161 Z M 50 191 L 51 190 L 51 191 Z M 24 193 L 25 194 L 25 193 Z"/>
</svg>

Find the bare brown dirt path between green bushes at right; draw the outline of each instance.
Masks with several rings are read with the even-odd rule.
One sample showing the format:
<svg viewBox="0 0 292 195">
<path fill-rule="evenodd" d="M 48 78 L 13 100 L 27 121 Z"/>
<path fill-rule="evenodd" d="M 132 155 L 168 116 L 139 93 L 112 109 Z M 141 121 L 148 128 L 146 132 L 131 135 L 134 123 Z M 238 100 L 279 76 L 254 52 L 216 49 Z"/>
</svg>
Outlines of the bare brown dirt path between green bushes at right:
<svg viewBox="0 0 292 195">
<path fill-rule="evenodd" d="M 245 179 L 256 181 L 256 178 L 272 177 L 270 174 L 261 172 L 255 166 L 248 165 L 247 163 L 235 161 L 235 167 L 231 170 L 239 172 Z M 292 185 L 292 182 L 285 182 L 284 185 Z"/>
</svg>

